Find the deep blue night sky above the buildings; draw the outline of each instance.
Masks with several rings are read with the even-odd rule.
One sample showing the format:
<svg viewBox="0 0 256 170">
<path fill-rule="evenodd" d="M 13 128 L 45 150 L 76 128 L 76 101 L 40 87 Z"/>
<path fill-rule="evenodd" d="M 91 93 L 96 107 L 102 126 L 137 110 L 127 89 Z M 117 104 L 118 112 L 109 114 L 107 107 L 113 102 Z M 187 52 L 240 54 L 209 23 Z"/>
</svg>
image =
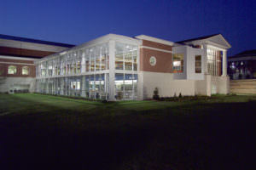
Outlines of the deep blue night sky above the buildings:
<svg viewBox="0 0 256 170">
<path fill-rule="evenodd" d="M 1 1 L 0 34 L 80 44 L 108 33 L 173 42 L 221 33 L 233 55 L 256 48 L 256 1 Z"/>
</svg>

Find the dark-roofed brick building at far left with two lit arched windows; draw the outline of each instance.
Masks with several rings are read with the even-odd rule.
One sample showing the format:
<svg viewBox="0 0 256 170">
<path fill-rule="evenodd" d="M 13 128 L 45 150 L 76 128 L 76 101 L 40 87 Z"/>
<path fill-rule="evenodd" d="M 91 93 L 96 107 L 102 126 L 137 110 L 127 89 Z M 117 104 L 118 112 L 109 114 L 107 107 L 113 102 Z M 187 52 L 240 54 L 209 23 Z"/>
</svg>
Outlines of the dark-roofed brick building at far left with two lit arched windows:
<svg viewBox="0 0 256 170">
<path fill-rule="evenodd" d="M 33 92 L 34 62 L 73 45 L 0 34 L 0 93 Z"/>
</svg>

